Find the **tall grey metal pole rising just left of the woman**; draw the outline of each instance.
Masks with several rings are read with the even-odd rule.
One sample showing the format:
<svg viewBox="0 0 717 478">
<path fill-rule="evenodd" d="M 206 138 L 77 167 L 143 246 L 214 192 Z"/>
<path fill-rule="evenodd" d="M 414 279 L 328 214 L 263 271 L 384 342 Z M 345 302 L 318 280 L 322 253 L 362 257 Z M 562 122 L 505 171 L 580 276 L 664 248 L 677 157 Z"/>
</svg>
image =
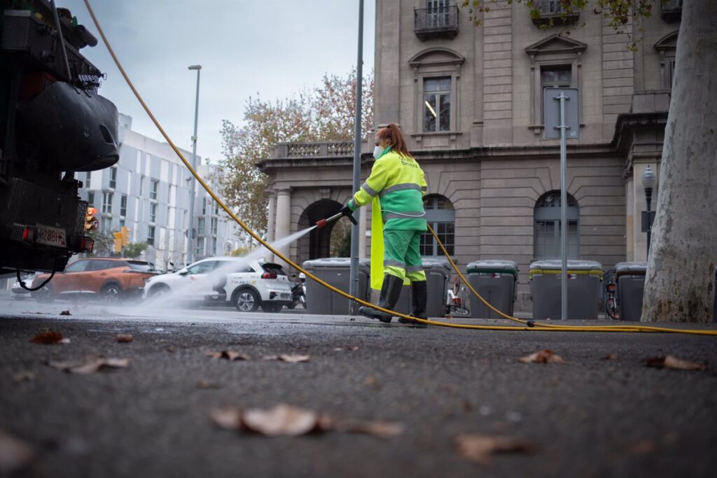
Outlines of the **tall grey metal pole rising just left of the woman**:
<svg viewBox="0 0 717 478">
<path fill-rule="evenodd" d="M 351 191 L 359 191 L 361 181 L 361 96 L 364 67 L 364 0 L 359 0 L 359 52 L 356 57 L 356 116 L 353 119 L 353 183 Z M 353 213 L 356 221 L 361 221 L 361 209 Z M 348 282 L 348 293 L 356 296 L 359 290 L 359 226 L 351 225 L 351 281 Z M 356 303 L 349 302 L 348 313 L 355 315 Z"/>
</svg>

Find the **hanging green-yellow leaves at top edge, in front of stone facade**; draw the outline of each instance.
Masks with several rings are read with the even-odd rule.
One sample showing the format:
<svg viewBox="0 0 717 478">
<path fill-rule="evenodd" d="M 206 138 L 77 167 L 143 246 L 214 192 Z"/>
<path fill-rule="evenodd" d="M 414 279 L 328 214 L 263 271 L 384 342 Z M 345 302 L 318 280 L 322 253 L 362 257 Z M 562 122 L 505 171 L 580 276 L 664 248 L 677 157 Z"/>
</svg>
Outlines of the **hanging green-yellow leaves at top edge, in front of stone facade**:
<svg viewBox="0 0 717 478">
<path fill-rule="evenodd" d="M 583 11 L 590 4 L 593 14 L 607 19 L 609 27 L 616 32 L 627 35 L 626 47 L 635 51 L 639 40 L 632 37 L 630 21 L 634 21 L 637 24 L 637 31 L 642 33 L 642 19 L 649 18 L 652 15 L 652 6 L 661 1 L 663 0 L 560 0 L 561 13 L 559 16 L 550 17 L 546 23 L 541 24 L 541 28 L 554 27 L 556 20 L 566 24 L 569 16 Z M 482 14 L 490 11 L 490 6 L 495 4 L 523 4 L 529 9 L 533 19 L 540 18 L 542 13 L 541 0 L 463 0 L 462 7 L 467 9 L 470 19 L 478 26 L 481 23 Z M 577 26 L 584 26 L 584 22 Z M 569 27 L 564 29 L 564 34 L 570 34 Z"/>
</svg>

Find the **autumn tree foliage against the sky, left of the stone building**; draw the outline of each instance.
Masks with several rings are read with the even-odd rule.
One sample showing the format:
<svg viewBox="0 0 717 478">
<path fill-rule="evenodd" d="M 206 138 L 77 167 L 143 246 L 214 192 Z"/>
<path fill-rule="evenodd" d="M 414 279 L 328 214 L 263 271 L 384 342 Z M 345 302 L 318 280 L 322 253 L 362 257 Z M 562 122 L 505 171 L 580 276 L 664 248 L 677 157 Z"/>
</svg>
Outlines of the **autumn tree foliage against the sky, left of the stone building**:
<svg viewBox="0 0 717 478">
<path fill-rule="evenodd" d="M 374 124 L 374 77 L 363 81 L 363 135 Z M 260 234 L 267 228 L 267 176 L 256 164 L 277 143 L 349 140 L 353 138 L 356 71 L 324 75 L 321 84 L 283 100 L 251 97 L 244 123 L 222 122 L 222 153 L 217 178 L 227 204 L 247 226 Z"/>
</svg>

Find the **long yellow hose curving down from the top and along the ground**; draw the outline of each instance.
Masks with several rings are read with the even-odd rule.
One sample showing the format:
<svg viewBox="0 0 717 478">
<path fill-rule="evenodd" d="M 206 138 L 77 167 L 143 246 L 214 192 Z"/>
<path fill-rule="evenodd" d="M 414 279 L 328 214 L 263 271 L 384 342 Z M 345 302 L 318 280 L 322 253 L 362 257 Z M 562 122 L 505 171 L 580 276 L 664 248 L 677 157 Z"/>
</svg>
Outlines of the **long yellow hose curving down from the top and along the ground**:
<svg viewBox="0 0 717 478">
<path fill-rule="evenodd" d="M 196 181 L 201 184 L 201 187 L 203 187 L 207 193 L 209 193 L 209 196 L 212 196 L 212 199 L 214 201 L 217 201 L 217 204 L 224 209 L 224 211 L 229 214 L 229 216 L 234 219 L 234 221 L 239 224 L 239 226 L 244 229 L 244 231 L 247 231 L 247 234 L 250 234 L 254 239 L 256 239 L 262 246 L 266 247 L 267 249 L 272 252 L 272 254 L 275 254 L 277 257 L 280 257 L 283 261 L 285 261 L 287 264 L 289 264 L 291 267 L 294 267 L 300 272 L 303 272 L 306 274 L 306 277 L 314 280 L 315 282 L 318 282 L 320 285 L 323 285 L 323 287 L 326 287 L 329 290 L 332 290 L 333 292 L 336 292 L 338 295 L 341 295 L 343 297 L 346 297 L 348 300 L 353 300 L 355 302 L 358 302 L 361 305 L 365 305 L 366 307 L 371 307 L 376 310 L 380 310 L 381 312 L 386 312 L 387 314 L 396 315 L 397 317 L 404 317 L 405 319 L 410 320 L 416 320 L 417 322 L 422 322 L 424 324 L 429 325 L 439 325 L 441 327 L 451 327 L 451 328 L 462 328 L 462 329 L 475 329 L 475 330 L 532 330 L 532 331 L 538 331 L 541 330 L 543 332 L 666 332 L 666 333 L 686 333 L 686 334 L 693 334 L 693 335 L 717 335 L 717 330 L 688 330 L 688 329 L 672 329 L 672 328 L 661 328 L 661 327 L 646 327 L 642 325 L 600 325 L 600 326 L 590 326 L 590 327 L 577 327 L 572 325 L 556 325 L 556 324 L 545 324 L 542 322 L 533 322 L 523 319 L 518 319 L 517 317 L 511 317 L 510 315 L 504 314 L 503 312 L 500 312 L 500 310 L 493 307 L 493 305 L 490 305 L 483 297 L 478 294 L 478 292 L 470 285 L 470 282 L 468 282 L 465 279 L 465 276 L 460 272 L 458 267 L 456 266 L 455 262 L 453 262 L 453 259 L 451 259 L 450 254 L 446 251 L 445 247 L 443 247 L 442 242 L 440 242 L 440 239 L 438 239 L 438 236 L 436 235 L 435 231 L 429 226 L 429 231 L 431 231 L 431 234 L 436 239 L 437 244 L 440 246 L 441 251 L 443 254 L 445 254 L 445 257 L 447 257 L 448 261 L 450 262 L 451 266 L 455 270 L 455 272 L 458 274 L 462 282 L 467 285 L 467 287 L 470 289 L 473 294 L 475 294 L 478 299 L 480 299 L 481 302 L 483 302 L 486 306 L 490 308 L 490 310 L 493 310 L 501 317 L 512 320 L 513 322 L 518 322 L 521 325 L 524 325 L 524 327 L 516 327 L 516 326 L 508 326 L 508 325 L 471 325 L 471 324 L 452 324 L 449 322 L 439 322 L 437 320 L 424 320 L 424 319 L 418 319 L 416 317 L 412 317 L 410 315 L 405 315 L 400 312 L 395 312 L 394 310 L 387 310 L 383 307 L 379 307 L 378 305 L 371 304 L 371 302 L 366 302 L 365 300 L 359 299 L 359 297 L 353 297 L 352 295 L 347 294 L 346 292 L 343 292 L 343 290 L 339 290 L 336 287 L 333 287 L 331 284 L 328 284 L 327 282 L 324 282 L 322 279 L 319 279 L 318 277 L 315 277 L 315 275 L 311 274 L 310 272 L 303 269 L 299 264 L 296 264 L 288 257 L 285 257 L 284 254 L 277 251 L 273 247 L 271 247 L 270 244 L 268 244 L 264 239 L 262 239 L 255 231 L 252 231 L 244 222 L 239 219 L 230 209 L 229 207 L 224 204 L 224 202 L 219 199 L 216 193 L 212 191 L 212 188 L 209 187 L 207 183 L 204 182 L 204 180 L 199 176 L 199 174 L 194 170 L 194 168 L 191 167 L 191 164 L 189 161 L 184 158 L 184 155 L 181 153 L 179 148 L 176 147 L 174 142 L 169 138 L 169 135 L 164 131 L 164 129 L 159 124 L 158 120 L 154 117 L 151 110 L 147 106 L 146 102 L 144 102 L 142 96 L 137 91 L 136 87 L 133 85 L 132 81 L 127 75 L 127 72 L 125 72 L 125 69 L 122 67 L 122 64 L 120 63 L 120 60 L 117 58 L 117 55 L 115 55 L 114 50 L 110 46 L 110 42 L 108 41 L 107 37 L 105 36 L 105 32 L 103 31 L 102 27 L 100 27 L 100 22 L 97 19 L 97 16 L 95 16 L 95 11 L 92 10 L 92 6 L 90 6 L 89 0 L 84 0 L 85 6 L 87 6 L 87 11 L 90 12 L 90 16 L 92 17 L 92 21 L 95 23 L 95 27 L 97 27 L 98 32 L 100 33 L 100 37 L 102 37 L 103 42 L 105 42 L 105 46 L 108 49 L 108 52 L 110 52 L 110 55 L 112 56 L 112 59 L 114 60 L 115 64 L 118 67 L 118 70 L 120 70 L 120 73 L 124 77 L 125 81 L 127 82 L 127 85 L 130 87 L 134 95 L 137 97 L 137 100 L 140 102 L 144 110 L 146 111 L 149 118 L 152 120 L 154 125 L 157 127 L 161 135 L 166 139 L 169 146 L 174 150 L 174 152 L 179 156 L 179 159 L 182 163 L 184 163 L 184 166 L 189 170 L 192 176 L 196 179 Z M 530 322 L 530 325 L 528 325 L 528 322 Z"/>
</svg>

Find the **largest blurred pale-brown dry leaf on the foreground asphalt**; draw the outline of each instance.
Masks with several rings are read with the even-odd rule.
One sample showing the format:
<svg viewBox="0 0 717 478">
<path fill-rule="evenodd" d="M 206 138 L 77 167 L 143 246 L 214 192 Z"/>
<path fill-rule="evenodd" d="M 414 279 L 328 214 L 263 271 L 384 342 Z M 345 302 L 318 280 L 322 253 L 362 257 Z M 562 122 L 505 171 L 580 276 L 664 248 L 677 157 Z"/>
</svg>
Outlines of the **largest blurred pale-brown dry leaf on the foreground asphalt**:
<svg viewBox="0 0 717 478">
<path fill-rule="evenodd" d="M 385 421 L 336 419 L 307 408 L 280 403 L 268 410 L 239 407 L 215 408 L 209 414 L 222 429 L 252 431 L 265 436 L 300 436 L 336 431 L 391 438 L 403 433 L 401 424 Z"/>
</svg>

